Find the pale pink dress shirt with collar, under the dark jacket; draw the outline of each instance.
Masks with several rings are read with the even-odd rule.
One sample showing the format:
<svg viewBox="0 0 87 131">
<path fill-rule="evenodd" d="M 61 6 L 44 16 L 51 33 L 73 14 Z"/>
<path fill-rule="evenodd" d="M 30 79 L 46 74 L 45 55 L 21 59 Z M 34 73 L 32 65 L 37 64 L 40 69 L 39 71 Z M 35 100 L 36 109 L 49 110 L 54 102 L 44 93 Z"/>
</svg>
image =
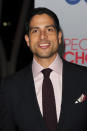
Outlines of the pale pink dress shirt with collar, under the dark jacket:
<svg viewBox="0 0 87 131">
<path fill-rule="evenodd" d="M 54 89 L 57 121 L 59 121 L 61 101 L 62 101 L 62 66 L 63 66 L 62 60 L 59 57 L 59 55 L 57 55 L 53 63 L 51 63 L 51 65 L 48 67 L 53 70 L 50 74 L 50 79 L 52 81 L 53 89 Z M 42 115 L 43 115 L 43 110 L 42 110 L 43 74 L 41 71 L 43 69 L 44 67 L 42 67 L 39 63 L 37 63 L 37 61 L 33 58 L 32 72 L 33 72 L 33 78 L 34 78 L 34 85 L 35 85 L 37 101 L 38 101 Z"/>
</svg>

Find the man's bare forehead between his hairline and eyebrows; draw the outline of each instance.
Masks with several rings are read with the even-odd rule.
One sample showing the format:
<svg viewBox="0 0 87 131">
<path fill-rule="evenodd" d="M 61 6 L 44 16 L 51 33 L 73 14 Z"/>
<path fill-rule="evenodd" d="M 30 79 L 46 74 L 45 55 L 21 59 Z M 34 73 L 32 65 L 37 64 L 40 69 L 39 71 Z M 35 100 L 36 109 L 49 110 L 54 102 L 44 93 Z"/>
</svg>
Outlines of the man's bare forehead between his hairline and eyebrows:
<svg viewBox="0 0 87 131">
<path fill-rule="evenodd" d="M 29 26 L 54 25 L 54 19 L 47 14 L 35 15 L 32 17 Z"/>
</svg>

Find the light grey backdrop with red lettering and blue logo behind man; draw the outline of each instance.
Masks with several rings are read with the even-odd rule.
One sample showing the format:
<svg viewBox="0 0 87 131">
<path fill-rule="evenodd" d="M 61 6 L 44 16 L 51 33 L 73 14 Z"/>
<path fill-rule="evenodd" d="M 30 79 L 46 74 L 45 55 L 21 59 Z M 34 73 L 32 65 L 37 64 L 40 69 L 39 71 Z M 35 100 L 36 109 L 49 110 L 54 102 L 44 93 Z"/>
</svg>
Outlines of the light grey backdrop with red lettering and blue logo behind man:
<svg viewBox="0 0 87 131">
<path fill-rule="evenodd" d="M 87 0 L 35 0 L 35 7 L 57 14 L 64 33 L 64 58 L 87 66 Z"/>
</svg>

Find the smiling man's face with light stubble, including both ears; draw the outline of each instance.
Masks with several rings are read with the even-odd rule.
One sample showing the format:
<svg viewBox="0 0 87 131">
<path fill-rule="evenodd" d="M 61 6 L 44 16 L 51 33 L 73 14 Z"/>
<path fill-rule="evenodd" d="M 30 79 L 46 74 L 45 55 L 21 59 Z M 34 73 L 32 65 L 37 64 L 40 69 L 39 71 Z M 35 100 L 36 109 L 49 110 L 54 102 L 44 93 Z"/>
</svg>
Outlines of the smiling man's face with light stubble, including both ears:
<svg viewBox="0 0 87 131">
<path fill-rule="evenodd" d="M 54 20 L 47 14 L 35 15 L 30 21 L 29 37 L 25 36 L 35 58 L 51 58 L 57 55 L 61 32 L 57 33 Z"/>
</svg>

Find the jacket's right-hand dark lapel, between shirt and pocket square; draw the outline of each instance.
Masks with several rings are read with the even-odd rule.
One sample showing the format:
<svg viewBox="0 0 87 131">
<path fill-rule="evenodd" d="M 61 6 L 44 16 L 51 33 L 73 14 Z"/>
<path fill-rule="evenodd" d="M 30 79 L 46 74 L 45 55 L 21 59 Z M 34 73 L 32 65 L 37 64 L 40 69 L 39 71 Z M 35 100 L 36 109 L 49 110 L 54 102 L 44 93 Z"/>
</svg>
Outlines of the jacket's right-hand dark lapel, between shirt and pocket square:
<svg viewBox="0 0 87 131">
<path fill-rule="evenodd" d="M 67 119 L 67 114 L 75 104 L 78 96 L 81 95 L 82 90 L 77 84 L 77 76 L 72 70 L 72 66 L 68 65 L 66 61 L 63 61 L 63 73 L 62 73 L 62 103 L 60 118 L 57 125 L 57 129 L 63 128 L 63 123 Z"/>
</svg>

